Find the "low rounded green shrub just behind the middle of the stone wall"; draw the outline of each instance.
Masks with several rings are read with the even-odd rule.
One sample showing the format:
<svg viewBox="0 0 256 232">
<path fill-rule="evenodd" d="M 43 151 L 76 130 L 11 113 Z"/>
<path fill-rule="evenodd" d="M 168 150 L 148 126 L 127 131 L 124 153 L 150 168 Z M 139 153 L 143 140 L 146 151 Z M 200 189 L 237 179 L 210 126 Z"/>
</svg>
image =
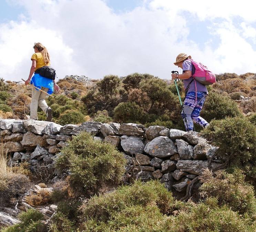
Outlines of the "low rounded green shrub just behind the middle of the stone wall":
<svg viewBox="0 0 256 232">
<path fill-rule="evenodd" d="M 142 122 L 145 117 L 143 108 L 138 106 L 135 102 L 121 102 L 114 109 L 114 120 L 116 122 Z"/>
</svg>

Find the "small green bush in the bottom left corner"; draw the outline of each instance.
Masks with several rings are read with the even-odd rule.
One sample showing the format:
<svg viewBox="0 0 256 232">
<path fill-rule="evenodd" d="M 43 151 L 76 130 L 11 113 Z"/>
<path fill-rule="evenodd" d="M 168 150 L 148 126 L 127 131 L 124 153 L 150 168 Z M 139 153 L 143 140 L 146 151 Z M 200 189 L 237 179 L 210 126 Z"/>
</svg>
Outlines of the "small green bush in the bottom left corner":
<svg viewBox="0 0 256 232">
<path fill-rule="evenodd" d="M 46 225 L 41 221 L 43 214 L 35 209 L 19 214 L 20 223 L 6 227 L 1 232 L 47 232 Z"/>
</svg>

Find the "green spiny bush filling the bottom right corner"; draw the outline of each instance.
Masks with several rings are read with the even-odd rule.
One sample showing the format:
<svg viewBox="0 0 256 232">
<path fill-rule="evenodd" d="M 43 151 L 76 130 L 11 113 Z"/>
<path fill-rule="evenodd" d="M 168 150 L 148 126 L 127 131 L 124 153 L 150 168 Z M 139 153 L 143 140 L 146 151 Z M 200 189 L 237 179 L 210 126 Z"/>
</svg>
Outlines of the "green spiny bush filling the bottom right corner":
<svg viewBox="0 0 256 232">
<path fill-rule="evenodd" d="M 217 202 L 215 198 L 208 198 L 205 202 L 179 210 L 177 216 L 168 217 L 162 231 L 253 232 L 256 229 L 255 220 L 241 217 L 228 206 L 219 208 Z"/>
</svg>

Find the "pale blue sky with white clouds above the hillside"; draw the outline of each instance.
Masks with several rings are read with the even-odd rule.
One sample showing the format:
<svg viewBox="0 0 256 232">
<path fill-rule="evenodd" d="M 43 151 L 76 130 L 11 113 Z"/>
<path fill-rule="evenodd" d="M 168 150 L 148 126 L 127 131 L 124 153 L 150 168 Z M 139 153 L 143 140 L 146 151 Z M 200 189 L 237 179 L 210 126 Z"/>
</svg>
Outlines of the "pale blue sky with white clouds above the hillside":
<svg viewBox="0 0 256 232">
<path fill-rule="evenodd" d="M 1 77 L 28 75 L 34 42 L 49 49 L 61 78 L 140 72 L 168 79 L 181 52 L 216 74 L 256 72 L 248 62 L 256 56 L 256 3 L 196 2 L 2 0 Z"/>
</svg>

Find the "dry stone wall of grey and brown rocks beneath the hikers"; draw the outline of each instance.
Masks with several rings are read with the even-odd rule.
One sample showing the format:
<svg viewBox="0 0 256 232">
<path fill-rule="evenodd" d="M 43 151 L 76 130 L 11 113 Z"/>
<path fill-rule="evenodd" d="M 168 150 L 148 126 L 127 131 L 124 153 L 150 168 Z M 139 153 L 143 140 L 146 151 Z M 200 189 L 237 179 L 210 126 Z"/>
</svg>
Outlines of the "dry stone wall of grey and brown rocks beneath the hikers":
<svg viewBox="0 0 256 232">
<path fill-rule="evenodd" d="M 12 154 L 10 165 L 28 162 L 31 170 L 41 167 L 54 170 L 55 177 L 50 179 L 52 182 L 59 178 L 58 170 L 54 169 L 56 154 L 68 145 L 72 135 L 81 131 L 90 132 L 94 140 L 116 146 L 124 154 L 126 169 L 132 165 L 132 156 L 136 156 L 141 166 L 139 178 L 143 181 L 160 179 L 166 188 L 178 192 L 183 192 L 188 183 L 207 168 L 208 160 L 218 149 L 207 143 L 200 133 L 164 126 L 145 128 L 134 123 L 100 122 L 61 126 L 36 120 L 0 120 L 2 143 Z M 212 167 L 221 162 L 214 159 Z"/>
</svg>

